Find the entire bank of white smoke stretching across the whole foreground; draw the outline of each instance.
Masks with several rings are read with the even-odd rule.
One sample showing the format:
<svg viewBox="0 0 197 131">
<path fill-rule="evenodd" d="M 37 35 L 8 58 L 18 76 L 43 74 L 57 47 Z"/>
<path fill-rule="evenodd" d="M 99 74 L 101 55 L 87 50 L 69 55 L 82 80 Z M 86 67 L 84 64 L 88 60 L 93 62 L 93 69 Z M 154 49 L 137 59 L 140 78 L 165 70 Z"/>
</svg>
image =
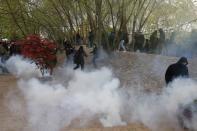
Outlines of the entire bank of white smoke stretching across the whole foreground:
<svg viewBox="0 0 197 131">
<path fill-rule="evenodd" d="M 140 122 L 153 131 L 179 131 L 180 106 L 197 98 L 197 83 L 191 79 L 177 79 L 161 92 L 146 92 L 135 85 L 121 88 L 106 67 L 84 72 L 61 68 L 65 82 L 59 83 L 56 75 L 52 81 L 41 82 L 33 75 L 34 65 L 21 57 L 12 57 L 6 64 L 20 76 L 18 87 L 26 101 L 28 127 L 34 131 L 60 131 L 79 119 L 78 127 L 97 119 L 104 127 Z M 24 80 L 23 74 L 34 77 Z"/>
</svg>

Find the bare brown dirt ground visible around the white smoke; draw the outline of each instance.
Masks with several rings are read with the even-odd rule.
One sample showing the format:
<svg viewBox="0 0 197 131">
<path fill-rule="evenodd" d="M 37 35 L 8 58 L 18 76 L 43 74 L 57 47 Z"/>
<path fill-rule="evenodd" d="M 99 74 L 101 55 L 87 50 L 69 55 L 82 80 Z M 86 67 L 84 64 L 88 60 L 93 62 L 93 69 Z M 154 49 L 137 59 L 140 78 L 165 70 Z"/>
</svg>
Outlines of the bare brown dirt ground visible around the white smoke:
<svg viewBox="0 0 197 131">
<path fill-rule="evenodd" d="M 91 56 L 89 56 L 91 59 Z M 62 59 L 62 58 L 60 58 Z M 156 56 L 134 53 L 117 53 L 105 59 L 99 66 L 107 65 L 112 68 L 114 75 L 121 80 L 122 87 L 143 86 L 148 91 L 156 91 L 163 86 L 164 73 L 170 63 L 174 63 L 178 58 Z M 90 63 L 90 60 L 87 61 Z M 189 60 L 189 70 L 192 78 L 197 78 L 197 61 Z M 140 82 L 139 82 L 140 80 Z M 28 131 L 26 127 L 25 110 L 21 107 L 25 105 L 22 94 L 17 86 L 17 79 L 12 75 L 0 75 L 0 131 Z M 17 105 L 10 100 L 12 98 L 20 99 L 21 103 Z M 7 103 L 11 103 L 8 107 Z M 19 104 L 19 105 L 18 105 Z M 22 105 L 22 106 L 21 106 Z M 12 106 L 14 108 L 12 108 Z M 14 110 L 13 110 L 14 109 Z M 23 113 L 19 113 L 23 111 Z M 70 129 L 65 128 L 62 131 L 149 131 L 141 124 L 132 124 L 113 128 L 103 128 L 97 124 L 89 128 Z"/>
</svg>

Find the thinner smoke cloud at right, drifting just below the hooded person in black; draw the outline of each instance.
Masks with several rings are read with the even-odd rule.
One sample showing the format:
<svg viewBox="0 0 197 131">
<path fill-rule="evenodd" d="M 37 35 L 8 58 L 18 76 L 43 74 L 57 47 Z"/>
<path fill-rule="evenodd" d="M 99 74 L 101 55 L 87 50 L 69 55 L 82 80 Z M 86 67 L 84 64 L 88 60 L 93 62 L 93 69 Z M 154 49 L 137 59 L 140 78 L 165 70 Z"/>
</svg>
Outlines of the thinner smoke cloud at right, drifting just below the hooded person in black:
<svg viewBox="0 0 197 131">
<path fill-rule="evenodd" d="M 180 131 L 180 109 L 197 98 L 196 91 L 197 83 L 183 78 L 176 79 L 159 93 L 127 89 L 125 106 L 131 111 L 129 121 L 141 122 L 153 131 Z"/>
</svg>

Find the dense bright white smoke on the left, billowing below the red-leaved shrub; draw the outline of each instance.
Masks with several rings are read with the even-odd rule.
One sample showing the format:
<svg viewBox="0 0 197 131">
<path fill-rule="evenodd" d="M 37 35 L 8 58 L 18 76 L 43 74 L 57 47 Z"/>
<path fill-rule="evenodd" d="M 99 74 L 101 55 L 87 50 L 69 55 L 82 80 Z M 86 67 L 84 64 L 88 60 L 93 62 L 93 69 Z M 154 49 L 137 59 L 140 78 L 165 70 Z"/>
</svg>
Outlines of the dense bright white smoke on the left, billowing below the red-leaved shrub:
<svg viewBox="0 0 197 131">
<path fill-rule="evenodd" d="M 35 65 L 20 56 L 10 58 L 6 64 L 12 74 L 21 78 L 18 87 L 26 100 L 30 129 L 59 131 L 76 119 L 87 121 L 79 123 L 79 126 L 85 126 L 94 117 L 107 127 L 125 124 L 120 116 L 120 82 L 111 70 L 63 69 L 62 77 L 67 77 L 66 83 L 58 84 L 58 78 L 48 82 L 34 78 Z M 27 76 L 29 79 L 24 79 Z"/>
</svg>

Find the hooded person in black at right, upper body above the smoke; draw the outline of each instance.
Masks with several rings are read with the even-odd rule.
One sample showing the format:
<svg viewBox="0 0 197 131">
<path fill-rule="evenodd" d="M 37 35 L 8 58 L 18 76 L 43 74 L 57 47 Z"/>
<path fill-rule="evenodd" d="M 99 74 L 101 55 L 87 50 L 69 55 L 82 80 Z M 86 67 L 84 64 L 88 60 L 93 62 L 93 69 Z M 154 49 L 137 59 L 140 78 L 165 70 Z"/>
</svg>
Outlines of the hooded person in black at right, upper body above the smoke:
<svg viewBox="0 0 197 131">
<path fill-rule="evenodd" d="M 185 57 L 181 57 L 177 63 L 170 65 L 167 68 L 167 71 L 165 74 L 166 84 L 171 83 L 174 79 L 178 77 L 188 78 L 189 72 L 188 72 L 187 65 L 188 65 L 188 61 L 187 61 L 187 58 Z"/>
</svg>

